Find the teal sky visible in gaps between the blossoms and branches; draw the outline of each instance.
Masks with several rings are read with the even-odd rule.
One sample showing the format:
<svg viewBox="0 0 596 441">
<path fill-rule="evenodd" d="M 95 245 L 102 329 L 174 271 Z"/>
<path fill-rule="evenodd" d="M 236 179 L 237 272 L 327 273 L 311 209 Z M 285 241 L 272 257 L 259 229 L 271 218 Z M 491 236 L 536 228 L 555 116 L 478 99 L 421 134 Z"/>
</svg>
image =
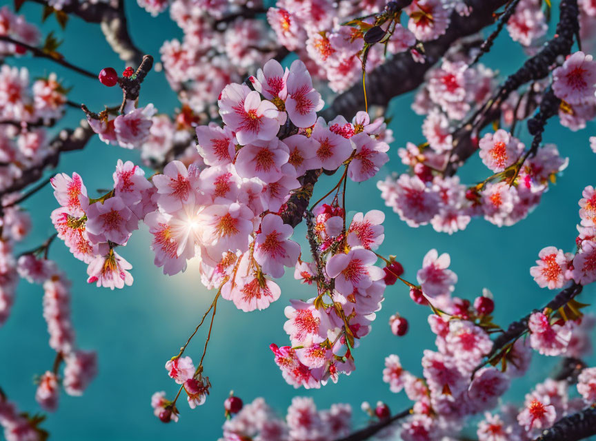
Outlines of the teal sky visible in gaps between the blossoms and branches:
<svg viewBox="0 0 596 441">
<path fill-rule="evenodd" d="M 128 6 L 127 1 L 127 6 Z M 156 19 L 150 17 L 130 1 L 129 25 L 135 43 L 154 57 L 159 57 L 162 41 L 179 37 L 181 31 L 170 21 L 168 14 Z M 39 23 L 41 7 L 26 3 L 22 9 L 28 21 Z M 97 25 L 88 25 L 72 19 L 61 31 L 53 18 L 41 26 L 43 34 L 55 30 L 64 43 L 61 52 L 66 59 L 92 71 L 112 66 L 123 69 L 123 63 L 110 50 Z M 521 64 L 524 54 L 512 43 L 506 33 L 499 37 L 495 49 L 484 60 L 503 74 Z M 69 98 L 84 102 L 92 110 L 103 104 L 115 105 L 121 100 L 118 88 L 105 88 L 99 81 L 87 79 L 64 70 L 47 60 L 23 58 L 8 61 L 26 65 L 31 76 L 57 72 L 66 86 L 74 86 Z M 404 170 L 399 162 L 397 148 L 406 141 L 423 141 L 421 117 L 410 110 L 412 94 L 395 99 L 388 109 L 392 116 L 391 128 L 395 143 L 391 145 L 390 162 L 378 178 L 390 172 Z M 163 72 L 151 72 L 141 90 L 141 105 L 154 103 L 159 112 L 172 112 L 177 106 L 175 94 L 170 90 Z M 73 127 L 83 117 L 82 112 L 69 110 L 63 125 Z M 431 248 L 439 253 L 448 252 L 452 269 L 459 276 L 455 295 L 473 299 L 487 287 L 495 296 L 495 320 L 501 325 L 524 316 L 530 309 L 544 305 L 553 296 L 547 289 L 540 289 L 530 277 L 533 265 L 542 247 L 554 245 L 573 251 L 579 216 L 577 201 L 586 185 L 595 185 L 596 154 L 591 152 L 588 137 L 595 134 L 594 123 L 586 130 L 570 132 L 553 119 L 548 124 L 544 140 L 556 143 L 563 156 L 570 158 L 568 169 L 556 185 L 544 195 L 542 203 L 526 220 L 513 227 L 497 228 L 484 220 L 475 219 L 464 232 L 453 236 L 436 233 L 432 227 L 412 229 L 399 220 L 397 214 L 383 207 L 372 179 L 366 183 L 348 183 L 346 203 L 348 211 L 384 209 L 386 212 L 386 237 L 380 253 L 395 254 L 406 269 L 406 278 L 415 279 L 422 258 Z M 525 127 L 524 127 L 525 129 Z M 523 141 L 528 141 L 524 130 Z M 93 195 L 94 189 L 112 185 L 112 172 L 118 158 L 140 163 L 139 152 L 111 147 L 92 139 L 85 150 L 64 154 L 57 172 L 78 172 Z M 460 176 L 466 183 L 475 183 L 488 176 L 489 170 L 475 157 L 464 166 Z M 50 175 L 50 172 L 48 172 Z M 325 194 L 335 184 L 331 177 L 317 184 L 317 194 Z M 33 231 L 17 251 L 30 249 L 46 240 L 53 232 L 50 212 L 57 207 L 50 187 L 30 198 L 24 205 L 32 216 Z M 350 214 L 351 216 L 351 214 Z M 296 229 L 295 238 L 301 245 L 304 225 Z M 224 422 L 224 399 L 230 389 L 248 402 L 263 396 L 285 415 L 293 396 L 313 396 L 319 408 L 334 402 L 348 402 L 355 409 L 357 424 L 364 424 L 366 417 L 359 410 L 363 400 L 384 400 L 393 411 L 408 406 L 404 394 L 393 394 L 381 379 L 384 358 L 397 353 L 404 367 L 420 374 L 420 358 L 424 349 L 434 349 L 434 336 L 426 322 L 429 310 L 415 305 L 408 297 L 408 290 L 401 285 L 388 287 L 383 309 L 377 314 L 373 331 L 361 340 L 355 351 L 357 370 L 349 377 L 342 377 L 338 384 L 328 384 L 316 391 L 295 390 L 281 378 L 268 349 L 270 343 L 286 345 L 288 337 L 282 329 L 286 320 L 284 307 L 290 298 L 309 298 L 312 291 L 297 283 L 293 271 L 281 279 L 281 298 L 265 311 L 244 313 L 232 302 L 221 300 L 213 329 L 210 347 L 205 360 L 205 373 L 212 382 L 212 393 L 206 404 L 190 410 L 181 400 L 181 418 L 177 424 L 162 424 L 152 415 L 150 397 L 153 392 L 164 390 L 173 397 L 177 385 L 168 378 L 164 364 L 174 356 L 179 347 L 200 320 L 210 304 L 214 291 L 207 291 L 200 283 L 196 267 L 189 266 L 186 273 L 174 277 L 161 274 L 153 265 L 149 249 L 150 235 L 145 227 L 135 232 L 121 254 L 133 265 L 132 287 L 110 291 L 86 283 L 86 265 L 74 259 L 68 249 L 57 240 L 50 249 L 50 258 L 66 271 L 72 280 L 72 320 L 81 349 L 95 349 L 99 357 L 99 375 L 83 397 L 73 398 L 61 394 L 59 409 L 48 416 L 43 427 L 51 433 L 52 440 L 164 440 L 188 439 L 216 440 L 221 435 Z M 595 287 L 584 290 L 579 299 L 590 302 Z M 48 346 L 46 322 L 41 315 L 42 288 L 21 282 L 12 316 L 0 328 L 0 384 L 10 399 L 23 411 L 40 411 L 34 401 L 33 377 L 51 369 L 54 352 Z M 410 321 L 407 336 L 397 338 L 390 333 L 388 318 L 399 311 Z M 203 329 L 188 347 L 188 355 L 200 358 Z M 523 399 L 535 382 L 542 381 L 553 369 L 555 359 L 535 356 L 528 376 L 515 380 L 507 397 L 517 402 Z M 594 365 L 595 358 L 592 357 Z"/>
</svg>

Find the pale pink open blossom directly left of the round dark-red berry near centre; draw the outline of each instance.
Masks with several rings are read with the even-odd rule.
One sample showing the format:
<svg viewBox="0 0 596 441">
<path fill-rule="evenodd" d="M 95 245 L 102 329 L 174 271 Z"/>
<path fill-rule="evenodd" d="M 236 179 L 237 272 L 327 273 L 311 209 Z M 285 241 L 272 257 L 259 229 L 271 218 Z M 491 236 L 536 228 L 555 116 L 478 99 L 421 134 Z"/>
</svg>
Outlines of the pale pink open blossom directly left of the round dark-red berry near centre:
<svg viewBox="0 0 596 441">
<path fill-rule="evenodd" d="M 327 275 L 335 278 L 335 289 L 349 296 L 355 289 L 366 289 L 375 280 L 384 278 L 384 271 L 373 266 L 375 253 L 364 248 L 352 248 L 348 254 L 335 254 L 325 267 Z"/>
</svg>

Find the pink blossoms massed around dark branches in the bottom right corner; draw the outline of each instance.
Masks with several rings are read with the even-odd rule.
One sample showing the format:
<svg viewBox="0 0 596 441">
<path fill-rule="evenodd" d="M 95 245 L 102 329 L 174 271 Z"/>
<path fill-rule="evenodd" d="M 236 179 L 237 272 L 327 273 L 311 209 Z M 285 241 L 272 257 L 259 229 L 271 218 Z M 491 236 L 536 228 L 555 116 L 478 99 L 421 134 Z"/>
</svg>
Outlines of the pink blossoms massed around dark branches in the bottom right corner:
<svg viewBox="0 0 596 441">
<path fill-rule="evenodd" d="M 494 302 L 488 290 L 476 298 L 473 307 L 468 300 L 452 297 L 457 276 L 448 269 L 449 264 L 448 254 L 439 256 L 436 250 L 431 250 L 417 273 L 420 285 L 411 288 L 421 291 L 426 304 L 430 303 L 434 314 L 428 317 L 428 323 L 437 336 L 437 351 L 424 351 L 422 376 L 406 371 L 397 355 L 385 360 L 384 382 L 394 393 L 406 391 L 415 402 L 413 415 L 401 423 L 401 439 L 457 438 L 465 418 L 477 413 L 485 413 L 478 425 L 481 441 L 533 439 L 542 429 L 593 404 L 596 377 L 593 369 L 585 369 L 577 386 L 585 402 L 568 397 L 565 380 L 548 379 L 528 393 L 521 409 L 507 406 L 499 414 L 488 413 L 497 406 L 510 382 L 524 376 L 530 366 L 532 349 L 545 355 L 586 356 L 591 349 L 589 334 L 594 320 L 578 313 L 574 321 L 550 325 L 548 317 L 535 313 L 529 320 L 530 338 L 515 340 L 506 351 L 499 352 L 496 348 L 497 358 L 491 355 L 491 364 L 500 364 L 501 369 L 484 367 L 488 364 L 486 356 L 493 354 L 489 334 L 498 329 L 490 316 Z M 539 345 L 537 339 L 542 339 Z M 555 341 L 560 342 L 559 346 Z"/>
</svg>

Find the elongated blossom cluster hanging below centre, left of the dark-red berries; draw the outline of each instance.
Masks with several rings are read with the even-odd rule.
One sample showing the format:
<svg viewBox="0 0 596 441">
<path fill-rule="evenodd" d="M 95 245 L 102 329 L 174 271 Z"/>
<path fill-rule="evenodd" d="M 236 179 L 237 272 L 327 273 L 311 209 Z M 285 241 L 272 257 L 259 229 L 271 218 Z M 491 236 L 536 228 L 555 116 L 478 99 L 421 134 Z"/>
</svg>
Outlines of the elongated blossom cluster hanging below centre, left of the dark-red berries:
<svg viewBox="0 0 596 441">
<path fill-rule="evenodd" d="M 307 389 L 355 369 L 352 351 L 370 332 L 386 287 L 373 252 L 384 239 L 384 214 L 358 213 L 347 229 L 341 207 L 321 205 L 314 215 L 310 241 L 316 262 L 297 263 L 295 278 L 316 285 L 317 296 L 286 307 L 291 347 L 271 345 L 286 381 Z"/>
</svg>

